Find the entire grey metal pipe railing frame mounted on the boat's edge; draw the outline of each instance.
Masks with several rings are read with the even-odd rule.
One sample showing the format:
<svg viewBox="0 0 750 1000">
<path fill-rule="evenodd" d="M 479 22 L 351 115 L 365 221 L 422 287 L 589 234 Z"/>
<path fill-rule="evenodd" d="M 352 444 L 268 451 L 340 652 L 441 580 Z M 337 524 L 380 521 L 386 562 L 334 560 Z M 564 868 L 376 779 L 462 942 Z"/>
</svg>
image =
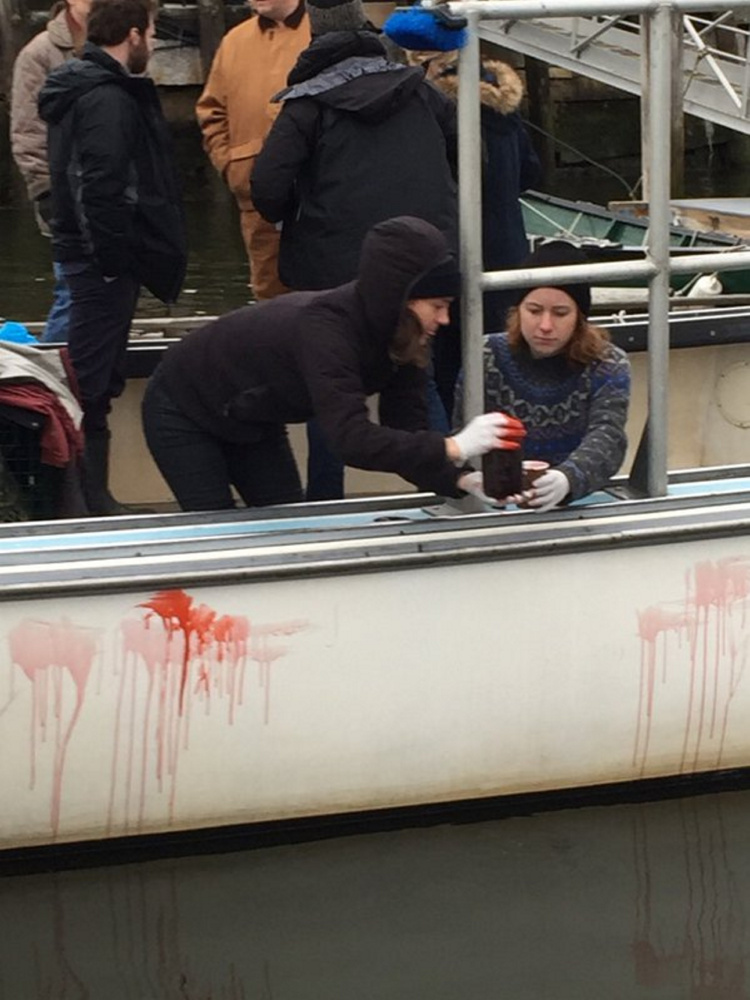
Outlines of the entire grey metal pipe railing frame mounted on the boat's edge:
<svg viewBox="0 0 750 1000">
<path fill-rule="evenodd" d="M 648 417 L 640 449 L 638 472 L 645 470 L 639 488 L 649 496 L 667 493 L 667 434 L 669 381 L 669 276 L 684 273 L 687 262 L 670 260 L 670 157 L 673 74 L 672 25 L 675 14 L 731 12 L 736 4 L 711 0 L 454 0 L 455 14 L 469 22 L 468 43 L 459 61 L 459 216 L 463 289 L 461 300 L 464 400 L 467 417 L 483 409 L 482 293 L 510 287 L 538 286 L 540 281 L 592 282 L 642 278 L 649 288 Z M 642 135 L 642 161 L 648 174 L 649 233 L 642 261 L 582 264 L 538 270 L 488 271 L 482 267 L 482 208 L 480 138 L 480 18 L 532 20 L 551 17 L 638 15 L 641 34 L 648 42 L 648 60 L 642 60 L 648 114 Z M 750 250 L 691 258 L 691 267 L 735 270 L 750 266 Z"/>
</svg>

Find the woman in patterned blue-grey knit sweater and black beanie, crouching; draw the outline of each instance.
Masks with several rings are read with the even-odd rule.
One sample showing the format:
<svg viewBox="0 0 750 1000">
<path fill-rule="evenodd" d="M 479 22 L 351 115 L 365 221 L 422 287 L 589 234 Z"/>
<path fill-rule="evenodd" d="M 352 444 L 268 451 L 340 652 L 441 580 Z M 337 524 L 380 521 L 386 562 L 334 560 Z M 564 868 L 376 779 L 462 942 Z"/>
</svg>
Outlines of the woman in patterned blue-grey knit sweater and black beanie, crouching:
<svg viewBox="0 0 750 1000">
<path fill-rule="evenodd" d="M 542 244 L 524 268 L 585 264 L 570 243 Z M 588 320 L 588 284 L 525 288 L 509 310 L 507 332 L 484 345 L 484 407 L 497 408 L 526 428 L 524 457 L 551 468 L 523 496 L 549 510 L 600 489 L 625 457 L 630 362 Z M 459 379 L 454 423 L 463 411 Z M 517 498 L 521 499 L 521 498 Z"/>
</svg>

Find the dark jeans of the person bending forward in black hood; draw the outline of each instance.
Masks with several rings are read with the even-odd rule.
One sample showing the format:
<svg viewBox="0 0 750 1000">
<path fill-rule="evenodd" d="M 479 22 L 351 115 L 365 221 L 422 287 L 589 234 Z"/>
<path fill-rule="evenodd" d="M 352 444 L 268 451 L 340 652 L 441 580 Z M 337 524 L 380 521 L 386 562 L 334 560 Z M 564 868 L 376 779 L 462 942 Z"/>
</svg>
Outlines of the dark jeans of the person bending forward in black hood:
<svg viewBox="0 0 750 1000">
<path fill-rule="evenodd" d="M 149 450 L 182 510 L 232 508 L 232 486 L 248 507 L 302 500 L 283 424 L 259 428 L 253 442 L 224 441 L 182 413 L 158 369 L 146 387 L 142 412 Z"/>
</svg>

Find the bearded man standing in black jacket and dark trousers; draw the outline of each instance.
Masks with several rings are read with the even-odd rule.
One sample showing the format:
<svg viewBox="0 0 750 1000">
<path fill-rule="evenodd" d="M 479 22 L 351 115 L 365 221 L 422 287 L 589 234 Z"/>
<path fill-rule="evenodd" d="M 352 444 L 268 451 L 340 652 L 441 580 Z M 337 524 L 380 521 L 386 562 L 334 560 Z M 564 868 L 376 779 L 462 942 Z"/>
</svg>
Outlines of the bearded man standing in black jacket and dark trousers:
<svg viewBox="0 0 750 1000">
<path fill-rule="evenodd" d="M 111 401 L 125 385 L 141 284 L 179 294 L 186 249 L 171 149 L 153 81 L 153 0 L 94 0 L 80 59 L 39 96 L 49 126 L 53 255 L 72 296 L 70 358 L 85 433 L 90 513 L 126 513 L 107 486 Z"/>
</svg>

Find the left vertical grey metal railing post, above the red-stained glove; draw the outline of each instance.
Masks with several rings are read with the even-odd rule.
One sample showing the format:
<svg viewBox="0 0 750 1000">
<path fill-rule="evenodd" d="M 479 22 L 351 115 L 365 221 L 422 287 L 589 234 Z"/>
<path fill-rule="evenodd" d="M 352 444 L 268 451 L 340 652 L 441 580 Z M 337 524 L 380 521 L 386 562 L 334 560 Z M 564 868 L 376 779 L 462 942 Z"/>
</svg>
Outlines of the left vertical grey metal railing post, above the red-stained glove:
<svg viewBox="0 0 750 1000">
<path fill-rule="evenodd" d="M 482 160 L 479 100 L 479 15 L 467 15 L 466 45 L 459 54 L 458 76 L 458 216 L 461 270 L 461 350 L 464 421 L 484 409 L 482 373 Z"/>
</svg>

